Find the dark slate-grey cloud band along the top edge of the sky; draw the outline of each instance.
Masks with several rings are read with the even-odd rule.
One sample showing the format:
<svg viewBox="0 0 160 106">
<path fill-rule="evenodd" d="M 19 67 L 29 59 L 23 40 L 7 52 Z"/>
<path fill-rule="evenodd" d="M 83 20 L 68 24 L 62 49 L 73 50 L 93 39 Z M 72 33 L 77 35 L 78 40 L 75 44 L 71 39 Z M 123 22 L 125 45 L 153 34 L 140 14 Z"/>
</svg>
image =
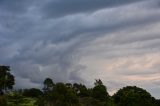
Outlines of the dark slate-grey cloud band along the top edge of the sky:
<svg viewBox="0 0 160 106">
<path fill-rule="evenodd" d="M 63 17 L 77 13 L 94 12 L 100 9 L 125 5 L 143 0 L 53 0 L 43 8 L 46 17 Z"/>
</svg>

